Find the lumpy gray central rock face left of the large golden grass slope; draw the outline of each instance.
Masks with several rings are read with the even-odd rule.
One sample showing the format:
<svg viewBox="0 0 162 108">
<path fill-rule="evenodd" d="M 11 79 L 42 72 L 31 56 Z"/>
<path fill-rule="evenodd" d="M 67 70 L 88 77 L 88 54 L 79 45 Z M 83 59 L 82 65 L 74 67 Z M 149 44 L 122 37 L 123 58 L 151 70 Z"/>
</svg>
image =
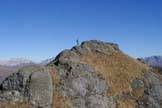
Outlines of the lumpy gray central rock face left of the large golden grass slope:
<svg viewBox="0 0 162 108">
<path fill-rule="evenodd" d="M 86 44 L 83 47 L 87 46 L 87 49 L 76 47 L 79 49 L 77 51 L 90 51 Z M 79 63 L 80 56 L 76 48 L 63 51 L 53 62 L 60 78 L 57 91 L 64 97 L 70 97 L 74 108 L 115 108 L 116 103 L 106 95 L 108 84 L 105 79 L 97 75 L 91 66 Z"/>
</svg>

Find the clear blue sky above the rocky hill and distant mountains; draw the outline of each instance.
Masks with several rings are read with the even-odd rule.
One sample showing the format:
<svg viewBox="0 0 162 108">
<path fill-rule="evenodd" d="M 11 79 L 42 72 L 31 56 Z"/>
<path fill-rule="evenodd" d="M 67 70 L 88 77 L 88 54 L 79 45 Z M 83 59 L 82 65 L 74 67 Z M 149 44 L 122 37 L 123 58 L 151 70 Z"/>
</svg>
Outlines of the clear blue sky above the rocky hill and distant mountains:
<svg viewBox="0 0 162 108">
<path fill-rule="evenodd" d="M 162 55 L 162 0 L 0 0 L 0 59 L 41 61 L 77 38 Z"/>
</svg>

